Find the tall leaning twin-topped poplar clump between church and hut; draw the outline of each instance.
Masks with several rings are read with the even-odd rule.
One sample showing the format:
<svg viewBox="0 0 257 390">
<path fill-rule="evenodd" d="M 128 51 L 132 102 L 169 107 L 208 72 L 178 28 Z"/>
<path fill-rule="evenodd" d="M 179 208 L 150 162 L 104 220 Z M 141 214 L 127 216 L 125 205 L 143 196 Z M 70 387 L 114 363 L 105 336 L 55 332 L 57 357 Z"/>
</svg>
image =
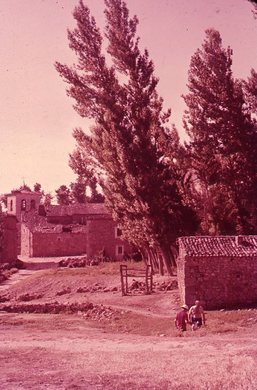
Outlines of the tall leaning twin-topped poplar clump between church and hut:
<svg viewBox="0 0 257 390">
<path fill-rule="evenodd" d="M 149 53 L 138 48 L 137 17 L 129 18 L 122 0 L 105 0 L 105 6 L 107 53 L 113 65 L 106 64 L 101 34 L 82 0 L 74 10 L 77 27 L 68 30 L 78 64 L 56 63 L 69 84 L 67 94 L 76 100 L 75 109 L 95 120 L 90 136 L 74 131 L 78 148 L 71 165 L 81 167 L 82 158 L 123 225 L 123 236 L 151 261 L 163 260 L 171 274 L 170 245 L 195 229 L 195 215 L 181 199 L 176 167 L 170 163 L 177 133 L 166 126 L 170 111 L 163 112 Z"/>
</svg>

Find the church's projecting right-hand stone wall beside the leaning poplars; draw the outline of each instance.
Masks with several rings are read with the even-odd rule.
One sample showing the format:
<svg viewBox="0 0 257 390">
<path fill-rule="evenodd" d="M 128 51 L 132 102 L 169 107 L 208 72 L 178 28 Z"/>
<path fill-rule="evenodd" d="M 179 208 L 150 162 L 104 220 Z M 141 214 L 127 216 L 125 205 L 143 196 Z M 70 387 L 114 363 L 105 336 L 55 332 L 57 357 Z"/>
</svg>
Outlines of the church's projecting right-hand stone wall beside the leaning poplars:
<svg viewBox="0 0 257 390">
<path fill-rule="evenodd" d="M 125 253 L 131 252 L 127 241 L 116 237 L 117 224 L 110 219 L 87 220 L 87 256 L 93 258 L 97 252 L 104 248 L 106 256 L 113 259 L 122 259 Z M 119 247 L 123 253 L 119 252 Z"/>
</svg>

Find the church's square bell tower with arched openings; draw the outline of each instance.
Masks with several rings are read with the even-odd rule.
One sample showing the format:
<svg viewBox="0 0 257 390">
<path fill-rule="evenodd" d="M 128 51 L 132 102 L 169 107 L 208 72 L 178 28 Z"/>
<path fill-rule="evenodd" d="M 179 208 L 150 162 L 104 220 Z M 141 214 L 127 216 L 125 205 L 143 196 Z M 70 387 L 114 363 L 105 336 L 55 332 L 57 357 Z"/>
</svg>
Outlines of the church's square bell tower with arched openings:
<svg viewBox="0 0 257 390">
<path fill-rule="evenodd" d="M 16 189 L 7 195 L 7 213 L 17 218 L 17 251 L 21 253 L 21 214 L 23 211 L 37 210 L 41 193 Z"/>
</svg>

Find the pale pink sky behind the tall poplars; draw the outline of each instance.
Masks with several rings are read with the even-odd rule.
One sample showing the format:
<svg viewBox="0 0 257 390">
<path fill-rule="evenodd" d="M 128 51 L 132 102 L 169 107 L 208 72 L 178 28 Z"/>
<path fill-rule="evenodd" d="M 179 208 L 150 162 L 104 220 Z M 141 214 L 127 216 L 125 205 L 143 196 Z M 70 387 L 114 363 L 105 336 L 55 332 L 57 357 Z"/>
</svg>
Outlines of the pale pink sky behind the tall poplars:
<svg viewBox="0 0 257 390">
<path fill-rule="evenodd" d="M 84 0 L 101 30 L 103 1 Z M 0 193 L 24 181 L 45 191 L 76 180 L 68 166 L 75 148 L 72 129 L 89 132 L 90 122 L 72 108 L 65 83 L 54 68 L 76 61 L 67 27 L 75 27 L 78 0 L 1 0 L 0 2 Z M 148 48 L 159 77 L 164 107 L 171 107 L 181 141 L 191 56 L 205 29 L 219 30 L 223 46 L 233 49 L 233 73 L 246 79 L 257 69 L 257 20 L 245 0 L 127 0 L 139 18 L 140 48 Z"/>
</svg>

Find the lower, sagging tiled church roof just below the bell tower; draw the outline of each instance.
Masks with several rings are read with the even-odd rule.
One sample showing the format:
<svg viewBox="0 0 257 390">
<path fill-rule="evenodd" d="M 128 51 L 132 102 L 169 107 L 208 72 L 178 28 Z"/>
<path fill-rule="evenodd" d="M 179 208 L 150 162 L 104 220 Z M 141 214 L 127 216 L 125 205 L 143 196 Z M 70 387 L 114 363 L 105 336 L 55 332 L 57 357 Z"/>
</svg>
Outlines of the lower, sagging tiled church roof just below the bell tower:
<svg viewBox="0 0 257 390">
<path fill-rule="evenodd" d="M 38 215 L 35 210 L 23 211 L 21 213 L 21 222 L 32 233 L 62 233 L 63 231 L 70 231 L 72 233 L 86 232 L 85 225 L 49 223 L 46 217 Z"/>
</svg>

